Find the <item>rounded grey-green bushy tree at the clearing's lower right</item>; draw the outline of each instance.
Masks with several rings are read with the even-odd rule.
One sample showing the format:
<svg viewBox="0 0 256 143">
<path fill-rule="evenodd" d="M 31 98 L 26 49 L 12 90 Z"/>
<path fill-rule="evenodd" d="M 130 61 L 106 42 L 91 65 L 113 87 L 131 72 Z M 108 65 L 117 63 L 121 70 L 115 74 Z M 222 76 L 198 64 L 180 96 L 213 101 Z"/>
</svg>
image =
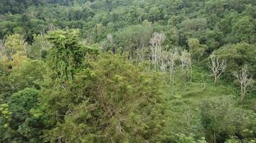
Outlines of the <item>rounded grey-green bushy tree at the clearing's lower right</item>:
<svg viewBox="0 0 256 143">
<path fill-rule="evenodd" d="M 225 134 L 228 135 L 226 138 L 234 135 L 239 115 L 234 107 L 234 100 L 230 97 L 205 99 L 201 103 L 200 115 L 207 142 L 224 142 Z"/>
</svg>

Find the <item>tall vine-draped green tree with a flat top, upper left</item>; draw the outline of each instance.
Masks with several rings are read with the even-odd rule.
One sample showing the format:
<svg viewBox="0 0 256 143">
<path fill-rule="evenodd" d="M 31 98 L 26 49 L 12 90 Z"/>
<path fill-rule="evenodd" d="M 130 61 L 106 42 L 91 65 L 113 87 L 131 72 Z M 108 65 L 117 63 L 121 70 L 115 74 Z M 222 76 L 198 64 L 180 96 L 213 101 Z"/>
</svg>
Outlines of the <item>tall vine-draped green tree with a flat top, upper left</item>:
<svg viewBox="0 0 256 143">
<path fill-rule="evenodd" d="M 72 80 L 89 51 L 97 49 L 83 46 L 78 30 L 52 31 L 47 39 L 54 45 L 47 56 L 47 66 L 52 70 L 52 79 Z"/>
</svg>

